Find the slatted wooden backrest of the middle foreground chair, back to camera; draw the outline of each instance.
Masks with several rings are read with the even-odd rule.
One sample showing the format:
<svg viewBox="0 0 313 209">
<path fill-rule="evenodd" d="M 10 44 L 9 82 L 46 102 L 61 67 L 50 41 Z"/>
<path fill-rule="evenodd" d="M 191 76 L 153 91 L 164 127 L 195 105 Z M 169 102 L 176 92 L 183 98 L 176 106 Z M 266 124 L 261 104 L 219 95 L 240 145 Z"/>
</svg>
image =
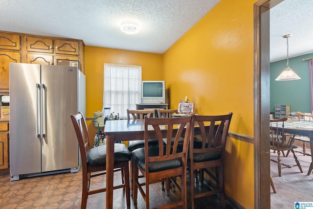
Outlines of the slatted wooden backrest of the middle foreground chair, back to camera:
<svg viewBox="0 0 313 209">
<path fill-rule="evenodd" d="M 192 116 L 186 117 L 168 117 L 168 118 L 148 118 L 145 117 L 145 161 L 146 167 L 148 163 L 182 159 L 182 164 L 187 163 L 187 153 L 189 139 L 191 134 Z M 158 156 L 149 157 L 148 140 L 149 133 L 155 132 L 155 136 L 151 139 L 158 140 Z M 176 134 L 173 134 L 176 133 Z M 180 137 L 184 138 L 182 151 L 178 148 Z M 174 143 L 171 145 L 172 139 Z M 167 139 L 168 143 L 164 145 L 163 139 Z"/>
</svg>

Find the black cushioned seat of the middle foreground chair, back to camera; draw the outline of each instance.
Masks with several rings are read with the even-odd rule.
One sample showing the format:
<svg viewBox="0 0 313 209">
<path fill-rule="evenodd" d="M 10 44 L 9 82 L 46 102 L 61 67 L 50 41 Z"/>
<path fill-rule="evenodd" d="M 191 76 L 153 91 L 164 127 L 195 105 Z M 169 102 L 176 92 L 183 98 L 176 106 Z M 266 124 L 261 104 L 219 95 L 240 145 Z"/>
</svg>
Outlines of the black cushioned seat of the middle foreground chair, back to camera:
<svg viewBox="0 0 313 209">
<path fill-rule="evenodd" d="M 166 146 L 164 146 L 164 152 Z M 158 156 L 158 147 L 149 147 L 149 157 Z M 134 162 L 143 170 L 146 170 L 145 165 L 145 149 L 138 148 L 132 152 Z M 170 161 L 149 163 L 149 172 L 157 172 L 161 170 L 173 169 L 181 166 L 181 158 Z"/>
</svg>

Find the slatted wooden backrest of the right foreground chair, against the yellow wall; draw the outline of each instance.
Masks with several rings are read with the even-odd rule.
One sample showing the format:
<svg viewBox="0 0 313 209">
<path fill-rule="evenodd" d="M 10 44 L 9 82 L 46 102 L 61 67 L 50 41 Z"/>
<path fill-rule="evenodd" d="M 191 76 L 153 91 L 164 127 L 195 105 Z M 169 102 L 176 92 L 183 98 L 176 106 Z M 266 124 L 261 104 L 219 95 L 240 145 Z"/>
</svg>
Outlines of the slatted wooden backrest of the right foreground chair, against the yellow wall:
<svg viewBox="0 0 313 209">
<path fill-rule="evenodd" d="M 189 150 L 193 162 L 194 154 L 216 153 L 223 163 L 224 150 L 232 113 L 220 116 L 193 116 L 195 128 L 192 130 Z M 197 123 L 199 128 L 197 128 Z"/>
</svg>

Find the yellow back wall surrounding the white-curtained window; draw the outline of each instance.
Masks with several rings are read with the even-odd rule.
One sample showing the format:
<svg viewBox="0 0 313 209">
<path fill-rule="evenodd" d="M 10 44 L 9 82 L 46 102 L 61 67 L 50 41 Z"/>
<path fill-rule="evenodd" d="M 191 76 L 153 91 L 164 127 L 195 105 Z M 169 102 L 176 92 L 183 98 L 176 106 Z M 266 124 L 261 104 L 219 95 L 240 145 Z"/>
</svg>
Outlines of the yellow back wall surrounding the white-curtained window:
<svg viewBox="0 0 313 209">
<path fill-rule="evenodd" d="M 162 55 L 112 48 L 85 46 L 86 117 L 102 110 L 104 64 L 141 66 L 142 80 L 162 80 Z M 97 129 L 88 123 L 89 138 Z"/>
</svg>

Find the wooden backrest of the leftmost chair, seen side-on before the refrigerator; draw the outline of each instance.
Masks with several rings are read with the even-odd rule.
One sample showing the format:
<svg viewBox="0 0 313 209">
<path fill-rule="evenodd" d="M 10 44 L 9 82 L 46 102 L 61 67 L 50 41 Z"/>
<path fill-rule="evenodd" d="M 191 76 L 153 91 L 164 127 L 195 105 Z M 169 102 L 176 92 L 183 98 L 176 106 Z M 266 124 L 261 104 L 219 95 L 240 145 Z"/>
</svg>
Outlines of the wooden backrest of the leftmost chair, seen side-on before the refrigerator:
<svg viewBox="0 0 313 209">
<path fill-rule="evenodd" d="M 70 115 L 70 117 L 72 119 L 72 123 L 75 129 L 79 150 L 82 158 L 82 166 L 84 168 L 84 166 L 87 167 L 86 154 L 90 149 L 86 120 L 81 112 L 78 112 L 78 114 L 76 115 Z"/>
</svg>

